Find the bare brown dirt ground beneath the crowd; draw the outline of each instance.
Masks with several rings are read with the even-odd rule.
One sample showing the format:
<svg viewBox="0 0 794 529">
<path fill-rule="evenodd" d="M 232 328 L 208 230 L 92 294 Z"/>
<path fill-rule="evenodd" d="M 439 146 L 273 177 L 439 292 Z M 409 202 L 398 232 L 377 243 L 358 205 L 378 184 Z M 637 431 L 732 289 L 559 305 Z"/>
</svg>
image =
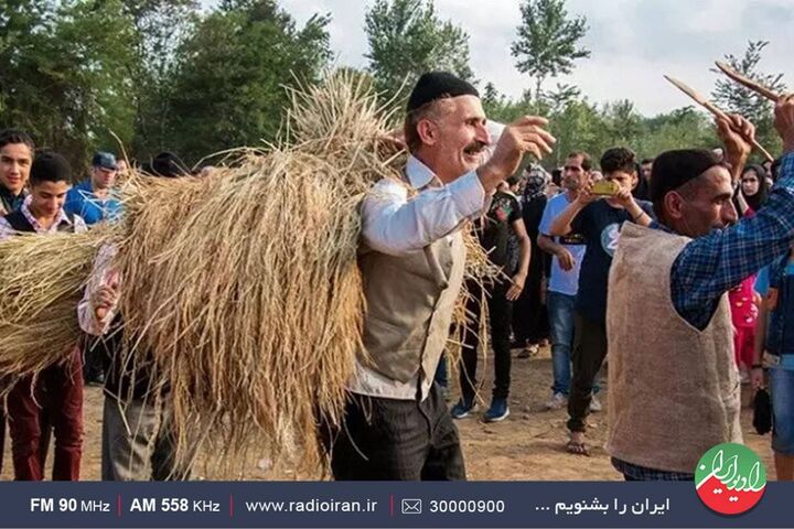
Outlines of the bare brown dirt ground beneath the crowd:
<svg viewBox="0 0 794 529">
<path fill-rule="evenodd" d="M 515 353 L 515 352 L 514 352 Z M 543 402 L 549 398 L 551 384 L 551 360 L 548 349 L 530 359 L 514 358 L 511 388 L 511 415 L 500 423 L 485 424 L 481 421 L 487 408 L 493 380 L 492 363 L 486 366 L 486 385 L 480 411 L 473 417 L 457 421 L 466 463 L 469 479 L 472 481 L 614 481 L 621 479 L 610 464 L 602 445 L 607 434 L 607 412 L 590 415 L 588 436 L 591 456 L 575 456 L 565 452 L 567 413 L 565 410 L 543 411 Z M 601 393 L 605 402 L 604 385 Z M 774 477 L 770 436 L 760 436 L 752 430 L 752 413 L 747 406 L 750 392 L 745 387 L 742 412 L 744 442 L 764 461 L 770 479 Z M 450 406 L 453 401 L 450 402 Z M 86 388 L 85 445 L 82 464 L 83 479 L 99 479 L 100 432 L 103 395 L 100 388 Z M 52 454 L 52 453 L 51 453 Z M 50 456 L 52 460 L 52 455 Z M 10 442 L 6 443 L 2 479 L 11 479 Z M 49 474 L 49 472 L 47 472 Z M 196 472 L 197 479 L 213 478 L 212 474 Z M 268 460 L 254 462 L 238 476 L 243 479 L 296 479 L 310 476 L 294 476 L 289 471 L 272 471 Z"/>
</svg>

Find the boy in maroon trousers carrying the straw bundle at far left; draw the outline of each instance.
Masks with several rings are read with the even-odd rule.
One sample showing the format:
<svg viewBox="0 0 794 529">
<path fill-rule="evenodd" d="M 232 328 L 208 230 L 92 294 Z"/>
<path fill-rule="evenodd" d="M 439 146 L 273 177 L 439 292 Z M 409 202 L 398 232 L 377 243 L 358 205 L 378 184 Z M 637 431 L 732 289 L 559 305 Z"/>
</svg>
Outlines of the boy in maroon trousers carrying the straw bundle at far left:
<svg viewBox="0 0 794 529">
<path fill-rule="evenodd" d="M 86 225 L 63 210 L 72 182 L 68 162 L 57 153 L 42 152 L 30 170 L 31 193 L 20 210 L 0 218 L 0 240 L 17 233 L 79 233 Z M 83 360 L 75 348 L 64 365 L 44 369 L 36 378 L 19 380 L 8 396 L 9 429 L 14 476 L 41 481 L 50 439 L 55 431 L 53 479 L 79 479 L 83 453 Z"/>
</svg>

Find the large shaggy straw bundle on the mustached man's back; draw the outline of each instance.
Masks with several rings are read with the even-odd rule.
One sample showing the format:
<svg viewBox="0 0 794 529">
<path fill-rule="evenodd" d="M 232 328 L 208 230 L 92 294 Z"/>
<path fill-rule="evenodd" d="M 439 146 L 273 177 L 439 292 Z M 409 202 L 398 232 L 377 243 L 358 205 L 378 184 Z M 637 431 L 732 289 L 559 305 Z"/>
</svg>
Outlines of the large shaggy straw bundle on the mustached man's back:
<svg viewBox="0 0 794 529">
<path fill-rule="evenodd" d="M 121 313 L 131 354 L 171 387 L 178 458 L 203 443 L 228 473 L 254 445 L 322 467 L 318 427 L 340 423 L 361 348 L 358 206 L 404 162 L 383 155 L 387 117 L 333 76 L 292 91 L 291 144 L 206 179 L 130 182 Z"/>
</svg>

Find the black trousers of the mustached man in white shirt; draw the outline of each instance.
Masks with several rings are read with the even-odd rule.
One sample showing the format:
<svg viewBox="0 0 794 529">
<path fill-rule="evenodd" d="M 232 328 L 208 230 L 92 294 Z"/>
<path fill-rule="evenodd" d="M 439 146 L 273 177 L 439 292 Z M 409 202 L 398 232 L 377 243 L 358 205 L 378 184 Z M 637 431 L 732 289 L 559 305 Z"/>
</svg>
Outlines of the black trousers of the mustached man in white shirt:
<svg viewBox="0 0 794 529">
<path fill-rule="evenodd" d="M 341 430 L 322 433 L 336 481 L 465 479 L 458 429 L 436 384 L 421 402 L 351 393 Z"/>
</svg>

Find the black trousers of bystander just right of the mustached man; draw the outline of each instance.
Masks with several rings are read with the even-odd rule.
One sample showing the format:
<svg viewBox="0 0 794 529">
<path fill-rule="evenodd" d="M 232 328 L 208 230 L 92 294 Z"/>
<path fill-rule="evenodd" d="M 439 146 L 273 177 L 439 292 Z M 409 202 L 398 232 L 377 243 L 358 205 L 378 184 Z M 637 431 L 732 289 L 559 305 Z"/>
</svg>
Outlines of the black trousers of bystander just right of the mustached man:
<svg viewBox="0 0 794 529">
<path fill-rule="evenodd" d="M 506 399 L 509 395 L 509 330 L 513 314 L 513 302 L 507 301 L 507 281 L 486 284 L 486 302 L 491 323 L 491 346 L 494 350 L 494 399 Z M 474 322 L 480 321 L 481 288 L 474 282 L 468 284 L 471 298 L 466 311 Z M 478 336 L 476 330 L 466 331 L 461 354 L 460 385 L 463 398 L 471 402 L 476 395 Z"/>
</svg>

